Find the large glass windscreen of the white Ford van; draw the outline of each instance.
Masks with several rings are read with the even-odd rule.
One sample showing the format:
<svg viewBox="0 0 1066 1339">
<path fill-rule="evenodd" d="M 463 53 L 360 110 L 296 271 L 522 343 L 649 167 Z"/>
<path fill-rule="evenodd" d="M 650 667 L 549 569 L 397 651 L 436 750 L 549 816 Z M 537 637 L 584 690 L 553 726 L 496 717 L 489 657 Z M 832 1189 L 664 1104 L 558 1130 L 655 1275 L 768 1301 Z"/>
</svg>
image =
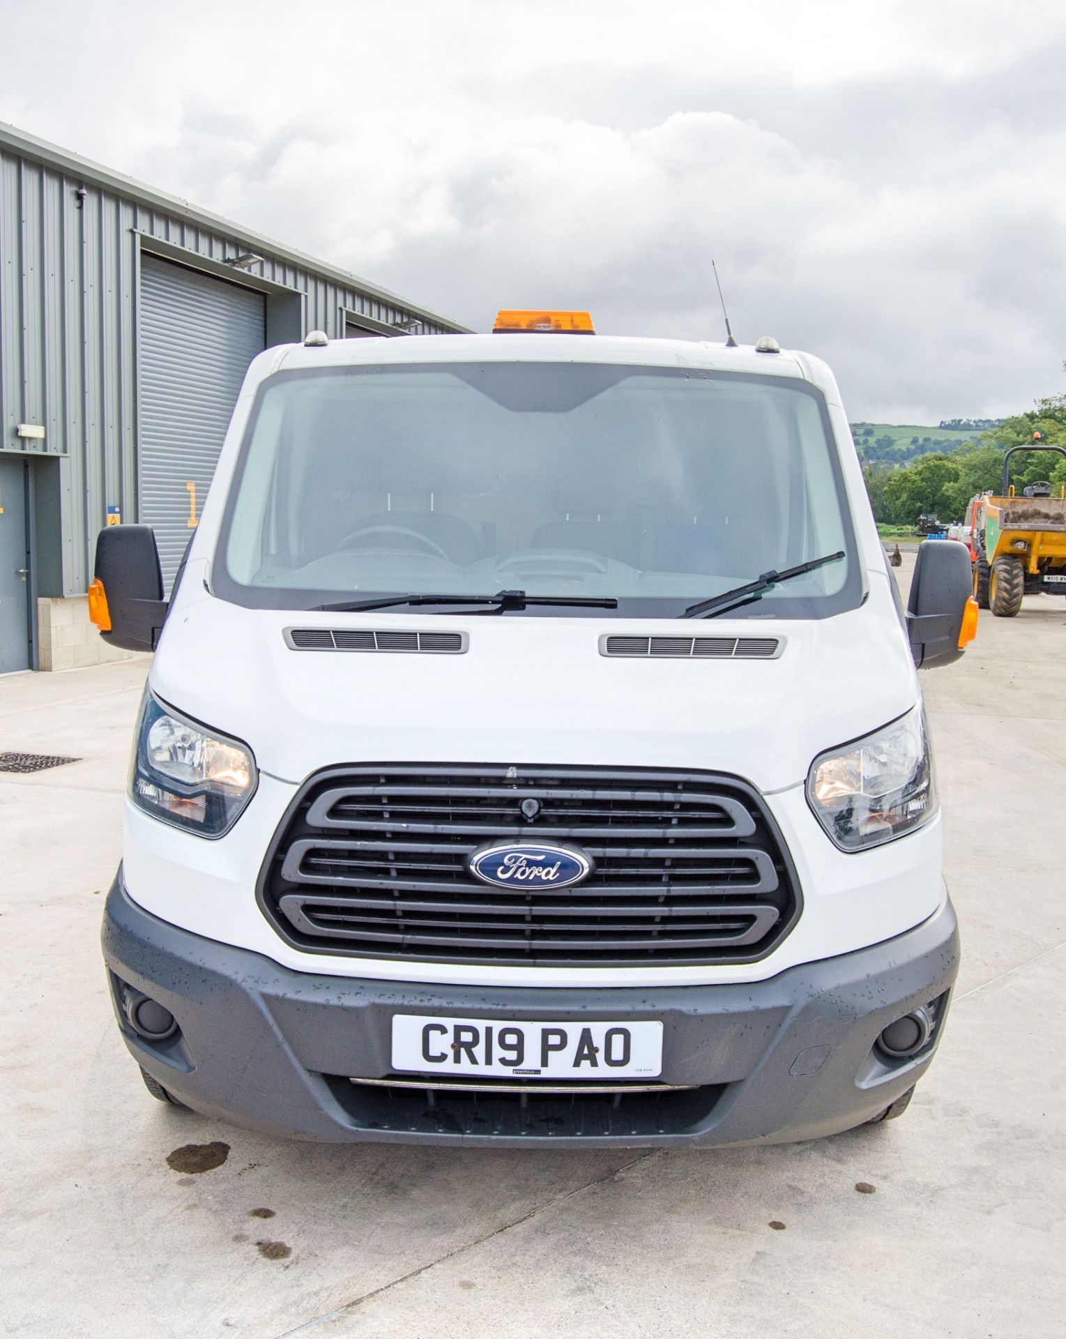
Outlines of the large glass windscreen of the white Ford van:
<svg viewBox="0 0 1066 1339">
<path fill-rule="evenodd" d="M 619 601 L 599 617 L 670 617 L 838 550 L 737 613 L 858 603 L 825 403 L 806 383 L 597 363 L 359 366 L 260 388 L 214 585 L 272 608 L 508 589 Z"/>
</svg>

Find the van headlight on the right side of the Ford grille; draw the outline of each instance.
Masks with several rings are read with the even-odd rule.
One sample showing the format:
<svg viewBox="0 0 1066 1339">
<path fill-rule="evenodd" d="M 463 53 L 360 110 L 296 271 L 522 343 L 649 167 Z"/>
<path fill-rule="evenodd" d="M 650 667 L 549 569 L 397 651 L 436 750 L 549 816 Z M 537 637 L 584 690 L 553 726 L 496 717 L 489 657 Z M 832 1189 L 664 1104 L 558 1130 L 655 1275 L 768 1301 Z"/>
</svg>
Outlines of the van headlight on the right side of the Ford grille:
<svg viewBox="0 0 1066 1339">
<path fill-rule="evenodd" d="M 841 850 L 903 837 L 936 813 L 929 738 L 921 707 L 891 726 L 814 759 L 808 803 Z"/>
</svg>

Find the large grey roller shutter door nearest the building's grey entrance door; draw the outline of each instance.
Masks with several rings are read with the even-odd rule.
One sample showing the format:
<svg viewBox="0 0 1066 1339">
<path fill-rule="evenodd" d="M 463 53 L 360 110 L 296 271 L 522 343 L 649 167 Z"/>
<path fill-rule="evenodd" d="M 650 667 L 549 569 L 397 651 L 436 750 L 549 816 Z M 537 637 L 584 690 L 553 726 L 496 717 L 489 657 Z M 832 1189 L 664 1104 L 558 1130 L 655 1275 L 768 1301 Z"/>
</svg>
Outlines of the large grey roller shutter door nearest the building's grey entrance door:
<svg viewBox="0 0 1066 1339">
<path fill-rule="evenodd" d="M 266 347 L 262 293 L 181 265 L 141 260 L 141 521 L 155 530 L 163 582 L 204 506 L 248 364 Z"/>
</svg>

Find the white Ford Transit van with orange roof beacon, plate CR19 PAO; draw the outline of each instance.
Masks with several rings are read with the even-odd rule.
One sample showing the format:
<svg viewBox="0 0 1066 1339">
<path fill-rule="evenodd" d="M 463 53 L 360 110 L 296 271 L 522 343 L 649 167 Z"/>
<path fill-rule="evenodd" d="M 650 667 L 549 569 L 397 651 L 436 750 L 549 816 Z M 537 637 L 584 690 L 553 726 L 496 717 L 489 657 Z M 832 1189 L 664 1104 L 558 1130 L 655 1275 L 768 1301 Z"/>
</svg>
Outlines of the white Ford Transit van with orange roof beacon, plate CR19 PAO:
<svg viewBox="0 0 1066 1339">
<path fill-rule="evenodd" d="M 165 599 L 103 953 L 147 1087 L 305 1139 L 806 1139 L 899 1115 L 959 960 L 917 667 L 829 368 L 615 339 L 266 349 Z"/>
</svg>

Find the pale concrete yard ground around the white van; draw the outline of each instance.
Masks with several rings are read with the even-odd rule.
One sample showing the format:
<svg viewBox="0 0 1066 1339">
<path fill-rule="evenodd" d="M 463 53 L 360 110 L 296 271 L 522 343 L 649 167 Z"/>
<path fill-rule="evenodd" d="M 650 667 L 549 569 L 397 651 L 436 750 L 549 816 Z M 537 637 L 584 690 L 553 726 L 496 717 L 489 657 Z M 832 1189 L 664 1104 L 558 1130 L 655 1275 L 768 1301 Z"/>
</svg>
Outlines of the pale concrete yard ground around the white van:
<svg viewBox="0 0 1066 1339">
<path fill-rule="evenodd" d="M 1063 1332 L 1065 648 L 1035 596 L 924 675 L 966 956 L 911 1110 L 725 1153 L 323 1148 L 151 1101 L 96 943 L 146 661 L 0 679 L 0 751 L 82 759 L 0 774 L 3 1332 Z"/>
</svg>

